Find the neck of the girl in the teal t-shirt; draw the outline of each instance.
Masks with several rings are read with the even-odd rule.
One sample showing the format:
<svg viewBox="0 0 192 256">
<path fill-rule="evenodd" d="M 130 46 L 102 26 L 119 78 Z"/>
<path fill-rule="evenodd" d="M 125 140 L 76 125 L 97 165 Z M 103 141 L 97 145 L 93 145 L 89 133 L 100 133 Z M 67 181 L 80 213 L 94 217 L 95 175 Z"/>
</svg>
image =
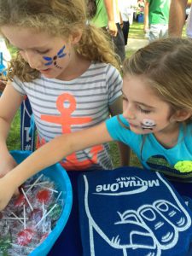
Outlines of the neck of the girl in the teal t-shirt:
<svg viewBox="0 0 192 256">
<path fill-rule="evenodd" d="M 164 148 L 173 148 L 177 145 L 179 136 L 179 123 L 173 124 L 172 126 L 166 128 L 165 131 L 159 131 L 154 133 L 156 140 Z"/>
</svg>

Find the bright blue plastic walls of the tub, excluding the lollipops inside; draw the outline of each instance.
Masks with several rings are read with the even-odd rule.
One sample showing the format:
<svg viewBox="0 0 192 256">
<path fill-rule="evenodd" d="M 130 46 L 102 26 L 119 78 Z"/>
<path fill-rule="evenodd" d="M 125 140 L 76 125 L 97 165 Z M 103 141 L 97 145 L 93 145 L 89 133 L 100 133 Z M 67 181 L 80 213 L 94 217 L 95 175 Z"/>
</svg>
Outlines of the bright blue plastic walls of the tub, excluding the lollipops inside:
<svg viewBox="0 0 192 256">
<path fill-rule="evenodd" d="M 31 151 L 12 151 L 15 161 L 19 164 L 22 160 L 25 160 L 27 156 L 32 154 Z M 56 239 L 60 236 L 61 231 L 64 229 L 67 224 L 67 219 L 71 212 L 72 202 L 73 202 L 73 194 L 72 194 L 72 186 L 67 175 L 67 172 L 63 169 L 60 164 L 55 164 L 54 166 L 49 166 L 45 168 L 43 171 L 39 172 L 43 173 L 47 177 L 50 177 L 59 187 L 61 191 L 66 193 L 62 193 L 61 198 L 64 199 L 65 205 L 64 209 L 61 213 L 61 217 L 58 219 L 55 228 L 51 231 L 49 236 L 38 246 L 35 248 L 30 256 L 45 256 L 49 253 L 51 247 L 53 247 Z M 38 174 L 39 174 L 38 173 Z"/>
</svg>

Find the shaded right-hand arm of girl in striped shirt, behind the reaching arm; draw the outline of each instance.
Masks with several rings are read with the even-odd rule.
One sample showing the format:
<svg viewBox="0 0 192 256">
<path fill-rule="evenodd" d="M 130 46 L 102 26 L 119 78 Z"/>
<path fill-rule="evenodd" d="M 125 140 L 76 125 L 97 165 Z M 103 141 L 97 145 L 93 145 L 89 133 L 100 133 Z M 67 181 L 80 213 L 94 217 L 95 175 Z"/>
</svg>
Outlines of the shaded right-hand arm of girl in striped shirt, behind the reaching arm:
<svg viewBox="0 0 192 256">
<path fill-rule="evenodd" d="M 110 113 L 112 116 L 118 115 L 123 112 L 122 96 L 119 96 L 113 104 L 110 105 Z M 131 149 L 125 143 L 118 142 L 119 153 L 120 153 L 120 165 L 129 166 L 131 159 Z"/>
</svg>

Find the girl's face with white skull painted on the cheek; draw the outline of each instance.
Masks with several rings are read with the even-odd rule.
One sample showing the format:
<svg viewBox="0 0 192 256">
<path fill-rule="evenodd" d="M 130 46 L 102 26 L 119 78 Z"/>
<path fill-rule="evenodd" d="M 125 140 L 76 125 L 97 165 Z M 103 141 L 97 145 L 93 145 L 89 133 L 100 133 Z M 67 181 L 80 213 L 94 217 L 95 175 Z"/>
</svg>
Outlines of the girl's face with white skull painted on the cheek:
<svg viewBox="0 0 192 256">
<path fill-rule="evenodd" d="M 170 106 L 155 96 L 141 76 L 125 76 L 123 109 L 131 131 L 137 134 L 171 131 L 175 124 L 170 119 Z"/>
</svg>

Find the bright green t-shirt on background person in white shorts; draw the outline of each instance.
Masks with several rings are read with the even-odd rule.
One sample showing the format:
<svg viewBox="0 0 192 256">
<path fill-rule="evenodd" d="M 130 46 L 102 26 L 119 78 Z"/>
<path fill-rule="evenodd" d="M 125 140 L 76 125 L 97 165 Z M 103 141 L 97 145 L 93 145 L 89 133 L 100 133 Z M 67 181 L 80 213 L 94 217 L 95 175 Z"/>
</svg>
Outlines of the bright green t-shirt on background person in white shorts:
<svg viewBox="0 0 192 256">
<path fill-rule="evenodd" d="M 147 0 L 148 6 L 148 23 L 168 25 L 170 0 Z"/>
</svg>

